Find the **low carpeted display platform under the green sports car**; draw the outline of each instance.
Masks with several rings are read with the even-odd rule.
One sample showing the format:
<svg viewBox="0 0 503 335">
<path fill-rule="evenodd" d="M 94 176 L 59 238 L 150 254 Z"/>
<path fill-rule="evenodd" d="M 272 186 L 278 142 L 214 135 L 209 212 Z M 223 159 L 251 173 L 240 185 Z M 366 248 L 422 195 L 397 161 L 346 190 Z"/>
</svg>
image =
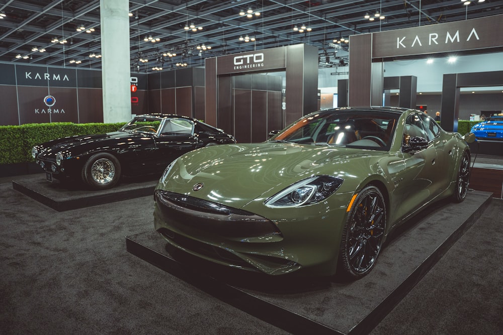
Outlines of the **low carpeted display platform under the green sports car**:
<svg viewBox="0 0 503 335">
<path fill-rule="evenodd" d="M 490 200 L 491 193 L 470 191 L 462 203 L 446 200 L 429 206 L 392 233 L 369 275 L 350 283 L 219 267 L 169 248 L 153 232 L 153 224 L 152 231 L 126 237 L 126 249 L 292 333 L 368 333 L 472 226 Z M 159 285 L 169 286 L 168 280 Z"/>
</svg>

